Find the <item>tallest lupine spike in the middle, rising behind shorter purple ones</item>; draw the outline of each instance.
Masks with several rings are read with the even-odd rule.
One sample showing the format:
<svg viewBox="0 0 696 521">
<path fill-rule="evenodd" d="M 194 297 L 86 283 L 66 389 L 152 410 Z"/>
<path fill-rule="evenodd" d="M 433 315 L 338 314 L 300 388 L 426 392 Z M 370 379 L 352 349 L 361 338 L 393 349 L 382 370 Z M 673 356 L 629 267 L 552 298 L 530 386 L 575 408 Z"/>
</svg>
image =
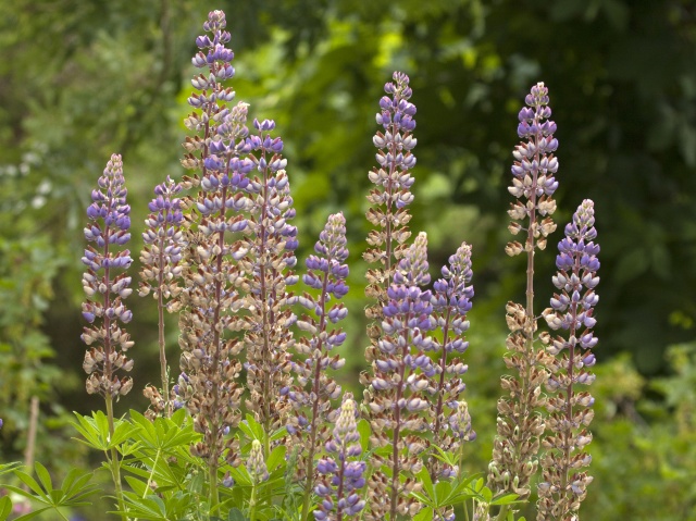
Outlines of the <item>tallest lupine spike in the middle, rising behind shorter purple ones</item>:
<svg viewBox="0 0 696 521">
<path fill-rule="evenodd" d="M 411 220 L 407 207 L 413 200 L 413 194 L 409 190 L 415 181 L 409 172 L 415 165 L 415 156 L 411 150 L 417 144 L 411 135 L 415 128 L 415 106 L 409 101 L 412 95 L 409 77 L 395 72 L 394 82 L 387 83 L 384 90 L 388 96 L 380 100 L 381 111 L 376 115 L 377 124 L 384 132 L 377 132 L 373 138 L 378 149 L 376 159 L 380 166 L 369 174 L 376 188 L 368 196 L 370 209 L 366 218 L 375 230 L 368 235 L 370 248 L 363 253 L 368 263 L 377 264 L 377 268 L 368 271 L 365 288 L 365 295 L 374 300 L 365 309 L 368 319 L 376 321 L 368 327 L 373 346 L 376 346 L 381 334 L 378 323 L 382 308 L 387 301 L 387 287 L 397 261 L 408 248 L 406 241 L 411 236 L 407 227 Z"/>
</svg>

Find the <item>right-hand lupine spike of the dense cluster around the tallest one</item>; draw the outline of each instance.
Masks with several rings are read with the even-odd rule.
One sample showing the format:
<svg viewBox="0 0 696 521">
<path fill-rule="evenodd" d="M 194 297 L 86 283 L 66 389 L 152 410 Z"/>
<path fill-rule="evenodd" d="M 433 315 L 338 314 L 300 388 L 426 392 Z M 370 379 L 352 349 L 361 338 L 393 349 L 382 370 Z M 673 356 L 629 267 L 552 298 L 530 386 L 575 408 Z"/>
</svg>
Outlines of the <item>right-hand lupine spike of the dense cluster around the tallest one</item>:
<svg viewBox="0 0 696 521">
<path fill-rule="evenodd" d="M 293 295 L 287 286 L 298 276 L 291 271 L 297 263 L 297 227 L 289 224 L 295 216 L 290 185 L 285 172 L 283 140 L 272 137 L 275 123 L 253 121 L 259 134 L 247 138 L 257 175 L 247 190 L 249 231 L 233 248 L 241 271 L 235 284 L 245 294 L 244 308 L 247 349 L 247 384 L 251 396 L 247 407 L 257 421 L 271 433 L 286 425 L 289 405 L 278 400 L 281 390 L 291 383 L 290 355 L 295 339 L 291 325 L 297 317 L 290 310 Z M 268 438 L 266 438 L 268 439 Z M 270 445 L 264 447 L 270 455 Z"/>
</svg>

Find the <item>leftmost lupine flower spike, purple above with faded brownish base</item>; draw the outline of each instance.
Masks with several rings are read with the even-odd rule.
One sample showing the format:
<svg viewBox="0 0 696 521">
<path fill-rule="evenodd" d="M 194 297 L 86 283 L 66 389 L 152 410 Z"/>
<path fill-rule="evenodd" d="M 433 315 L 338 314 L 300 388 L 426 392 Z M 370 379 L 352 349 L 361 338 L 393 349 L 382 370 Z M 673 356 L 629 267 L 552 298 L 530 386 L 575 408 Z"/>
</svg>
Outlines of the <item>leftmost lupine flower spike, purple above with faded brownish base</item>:
<svg viewBox="0 0 696 521">
<path fill-rule="evenodd" d="M 83 368 L 89 375 L 87 393 L 99 393 L 111 400 L 133 387 L 133 380 L 115 374 L 133 369 L 133 360 L 125 355 L 133 342 L 119 325 L 133 317 L 123 303 L 133 293 L 130 277 L 125 273 L 114 276 L 114 271 L 125 270 L 133 262 L 127 249 L 119 250 L 130 239 L 130 207 L 126 204 L 121 156 L 111 156 L 98 185 L 99 189 L 91 193 L 92 203 L 87 209 L 90 223 L 85 227 L 85 238 L 96 247 L 87 246 L 82 259 L 87 266 L 83 275 L 87 295 L 83 317 L 91 324 L 84 328 L 82 339 L 92 346 L 85 353 Z"/>
</svg>

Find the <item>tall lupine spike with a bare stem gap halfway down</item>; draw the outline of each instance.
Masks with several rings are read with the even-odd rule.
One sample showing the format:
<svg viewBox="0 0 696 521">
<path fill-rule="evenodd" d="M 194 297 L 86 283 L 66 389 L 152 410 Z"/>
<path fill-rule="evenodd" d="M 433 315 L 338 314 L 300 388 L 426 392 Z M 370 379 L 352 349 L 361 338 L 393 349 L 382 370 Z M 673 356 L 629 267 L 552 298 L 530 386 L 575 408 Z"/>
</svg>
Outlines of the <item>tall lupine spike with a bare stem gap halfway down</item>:
<svg viewBox="0 0 696 521">
<path fill-rule="evenodd" d="M 509 393 L 498 401 L 497 435 L 493 461 L 488 467 L 488 484 L 497 493 L 510 492 L 522 499 L 530 495 L 530 477 L 536 472 L 539 436 L 544 422 L 536 412 L 544 406 L 542 385 L 546 372 L 539 367 L 544 353 L 534 347 L 536 315 L 534 313 L 534 250 L 546 248 L 548 234 L 556 224 L 548 216 L 556 211 L 552 199 L 558 182 L 558 160 L 554 152 L 558 141 L 554 137 L 556 123 L 549 121 L 548 89 L 543 83 L 532 87 L 525 97 L 527 107 L 520 111 L 518 135 L 520 142 L 512 153 L 512 186 L 508 189 L 518 201 L 508 214 L 513 220 L 508 230 L 517 235 L 526 233 L 524 245 L 512 241 L 506 247 L 510 256 L 526 253 L 526 302 L 508 302 L 507 322 L 510 335 L 505 362 L 517 376 L 504 376 L 501 387 Z"/>
</svg>

